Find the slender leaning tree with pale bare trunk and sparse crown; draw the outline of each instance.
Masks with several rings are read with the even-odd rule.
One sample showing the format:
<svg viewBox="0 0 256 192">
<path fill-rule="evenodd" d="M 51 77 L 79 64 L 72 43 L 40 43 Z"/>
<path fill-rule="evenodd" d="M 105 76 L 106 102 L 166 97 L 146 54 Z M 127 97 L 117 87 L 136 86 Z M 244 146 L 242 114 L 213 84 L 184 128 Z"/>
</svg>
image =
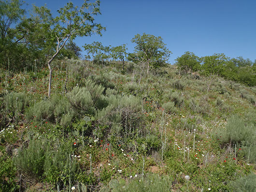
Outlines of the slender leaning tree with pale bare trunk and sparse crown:
<svg viewBox="0 0 256 192">
<path fill-rule="evenodd" d="M 94 15 L 100 14 L 100 1 L 96 0 L 94 3 L 89 3 L 89 0 L 84 1 L 81 7 L 74 6 L 72 2 L 69 2 L 66 6 L 60 8 L 57 11 L 59 16 L 54 19 L 52 27 L 49 28 L 49 41 L 56 43 L 56 51 L 47 61 L 49 68 L 49 97 L 52 83 L 51 62 L 59 54 L 66 42 L 69 39 L 75 39 L 77 36 L 90 36 L 94 33 L 101 35 L 101 31 L 105 29 L 100 24 L 94 23 Z"/>
</svg>

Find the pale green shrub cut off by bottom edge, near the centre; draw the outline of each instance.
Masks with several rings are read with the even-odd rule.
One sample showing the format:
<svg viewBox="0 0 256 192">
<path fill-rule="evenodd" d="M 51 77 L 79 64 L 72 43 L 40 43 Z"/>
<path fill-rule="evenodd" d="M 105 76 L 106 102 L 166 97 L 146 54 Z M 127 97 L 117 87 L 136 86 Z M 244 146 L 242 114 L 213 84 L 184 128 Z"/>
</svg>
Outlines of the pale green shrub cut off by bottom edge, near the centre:
<svg viewBox="0 0 256 192">
<path fill-rule="evenodd" d="M 148 174 L 145 178 L 134 178 L 129 181 L 112 180 L 106 192 L 169 192 L 171 191 L 172 178 Z M 103 191 L 102 191 L 103 192 Z"/>
</svg>

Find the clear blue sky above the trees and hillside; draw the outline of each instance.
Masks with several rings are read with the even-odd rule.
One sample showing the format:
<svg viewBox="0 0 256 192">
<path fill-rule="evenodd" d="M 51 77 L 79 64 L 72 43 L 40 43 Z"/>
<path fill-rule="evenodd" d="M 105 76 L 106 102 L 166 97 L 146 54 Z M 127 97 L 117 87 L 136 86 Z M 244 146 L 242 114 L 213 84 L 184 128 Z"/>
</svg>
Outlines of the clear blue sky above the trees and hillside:
<svg viewBox="0 0 256 192">
<path fill-rule="evenodd" d="M 57 14 L 69 0 L 26 0 L 44 4 Z M 83 0 L 72 0 L 81 5 Z M 185 51 L 198 56 L 224 53 L 228 57 L 256 59 L 256 0 L 101 0 L 101 15 L 95 22 L 106 27 L 102 37 L 77 38 L 85 43 L 100 41 L 104 46 L 127 44 L 143 32 L 161 36 L 174 59 Z M 85 54 L 85 53 L 84 53 Z"/>
</svg>

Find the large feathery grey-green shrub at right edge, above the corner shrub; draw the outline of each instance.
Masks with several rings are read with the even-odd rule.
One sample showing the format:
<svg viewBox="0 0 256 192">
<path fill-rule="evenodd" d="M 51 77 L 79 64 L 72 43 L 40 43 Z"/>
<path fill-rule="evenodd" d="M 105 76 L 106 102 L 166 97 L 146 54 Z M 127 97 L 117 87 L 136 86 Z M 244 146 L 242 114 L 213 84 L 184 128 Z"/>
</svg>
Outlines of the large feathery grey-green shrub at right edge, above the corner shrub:
<svg viewBox="0 0 256 192">
<path fill-rule="evenodd" d="M 248 162 L 256 162 L 256 127 L 238 116 L 232 116 L 225 129 L 219 130 L 217 139 L 221 146 L 232 146 L 238 150 Z M 237 152 L 237 151 L 236 151 Z"/>
</svg>

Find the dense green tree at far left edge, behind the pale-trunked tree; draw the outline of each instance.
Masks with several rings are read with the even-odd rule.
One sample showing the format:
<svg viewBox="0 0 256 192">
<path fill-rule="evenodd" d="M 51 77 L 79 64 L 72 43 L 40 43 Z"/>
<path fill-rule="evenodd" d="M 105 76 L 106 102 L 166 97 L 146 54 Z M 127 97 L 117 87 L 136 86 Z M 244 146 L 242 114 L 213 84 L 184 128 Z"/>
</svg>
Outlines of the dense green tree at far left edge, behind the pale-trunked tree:
<svg viewBox="0 0 256 192">
<path fill-rule="evenodd" d="M 23 5 L 20 0 L 0 1 L 0 64 L 8 70 L 45 57 L 42 50 L 52 15 L 46 7 L 33 6 L 27 17 Z"/>
</svg>

